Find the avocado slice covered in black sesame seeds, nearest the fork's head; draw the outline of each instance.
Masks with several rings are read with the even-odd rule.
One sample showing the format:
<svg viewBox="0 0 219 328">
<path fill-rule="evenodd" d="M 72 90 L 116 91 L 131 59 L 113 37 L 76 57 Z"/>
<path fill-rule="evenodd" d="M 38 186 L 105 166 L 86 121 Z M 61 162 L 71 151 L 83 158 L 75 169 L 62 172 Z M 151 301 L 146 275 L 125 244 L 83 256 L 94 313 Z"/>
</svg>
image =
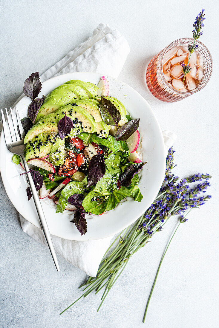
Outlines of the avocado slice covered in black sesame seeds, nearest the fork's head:
<svg viewBox="0 0 219 328">
<path fill-rule="evenodd" d="M 29 140 L 25 146 L 24 157 L 26 161 L 31 158 L 42 158 L 51 152 L 52 140 L 56 136 L 56 133 L 39 133 L 36 137 Z"/>
</svg>

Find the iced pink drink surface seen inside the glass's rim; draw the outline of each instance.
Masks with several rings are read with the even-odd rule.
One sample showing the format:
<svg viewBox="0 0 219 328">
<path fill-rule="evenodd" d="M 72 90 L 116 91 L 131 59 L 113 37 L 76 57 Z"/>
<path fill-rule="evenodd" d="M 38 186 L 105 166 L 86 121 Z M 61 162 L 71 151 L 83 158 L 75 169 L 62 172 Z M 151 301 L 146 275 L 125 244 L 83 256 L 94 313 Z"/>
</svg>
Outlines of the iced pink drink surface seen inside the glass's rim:
<svg viewBox="0 0 219 328">
<path fill-rule="evenodd" d="M 188 47 L 174 47 L 163 56 L 163 75 L 165 80 L 177 91 L 188 92 L 198 87 L 204 76 L 204 59 L 198 51 L 191 54 Z M 190 72 L 185 75 L 182 65 L 187 65 L 189 60 Z M 183 82 L 184 79 L 184 82 Z"/>
</svg>

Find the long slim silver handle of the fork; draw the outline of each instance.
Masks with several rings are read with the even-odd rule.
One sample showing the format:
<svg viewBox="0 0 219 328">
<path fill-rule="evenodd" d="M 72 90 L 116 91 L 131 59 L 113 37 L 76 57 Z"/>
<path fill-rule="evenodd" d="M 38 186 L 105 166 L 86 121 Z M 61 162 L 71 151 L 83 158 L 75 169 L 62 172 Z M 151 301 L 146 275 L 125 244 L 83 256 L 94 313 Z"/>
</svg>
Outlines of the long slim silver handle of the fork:
<svg viewBox="0 0 219 328">
<path fill-rule="evenodd" d="M 25 158 L 23 158 L 23 156 L 22 156 L 22 160 L 23 160 L 23 163 L 24 163 L 25 171 L 26 172 L 30 171 L 30 169 L 27 165 L 27 162 L 26 162 Z M 45 215 L 44 215 L 44 212 L 43 212 L 43 209 L 42 209 L 42 205 L 41 205 L 40 200 L 39 200 L 39 196 L 37 194 L 37 190 L 36 190 L 32 175 L 31 175 L 30 172 L 27 173 L 26 175 L 27 175 L 29 186 L 30 186 L 31 194 L 33 196 L 34 203 L 35 203 L 35 206 L 36 206 L 36 209 L 37 209 L 37 213 L 38 213 L 38 216 L 39 216 L 39 221 L 40 221 L 40 224 L 41 224 L 41 227 L 42 227 L 42 231 L 44 233 L 47 244 L 49 246 L 49 250 L 50 250 L 50 253 L 52 255 L 53 261 L 55 263 L 56 269 L 59 272 L 60 268 L 59 268 L 59 263 L 58 263 L 58 260 L 57 260 L 57 257 L 56 257 L 56 252 L 55 252 L 55 249 L 54 249 L 54 246 L 53 246 L 53 241 L 52 241 L 52 238 L 51 238 L 51 235 L 50 235 L 50 232 L 49 232 L 49 228 L 48 228 L 46 218 L 45 218 Z"/>
</svg>

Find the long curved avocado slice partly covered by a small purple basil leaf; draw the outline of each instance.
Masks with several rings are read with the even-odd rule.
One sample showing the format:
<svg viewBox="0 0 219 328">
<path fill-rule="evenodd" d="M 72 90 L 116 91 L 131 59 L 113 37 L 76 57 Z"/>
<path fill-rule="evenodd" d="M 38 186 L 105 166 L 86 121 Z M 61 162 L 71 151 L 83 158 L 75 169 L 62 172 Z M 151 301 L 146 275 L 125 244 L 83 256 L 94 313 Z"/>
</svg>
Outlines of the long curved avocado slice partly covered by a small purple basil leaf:
<svg viewBox="0 0 219 328">
<path fill-rule="evenodd" d="M 60 121 L 61 118 L 64 117 L 65 112 L 66 115 L 70 117 L 72 120 L 77 119 L 79 122 L 82 122 L 84 132 L 94 133 L 96 131 L 97 124 L 90 113 L 88 113 L 84 108 L 81 108 L 79 106 L 67 105 L 41 118 L 28 131 L 28 133 L 24 138 L 24 143 L 27 143 L 29 140 L 33 139 L 39 133 L 55 132 L 57 134 L 58 122 Z M 76 125 L 78 128 L 78 124 Z"/>
</svg>

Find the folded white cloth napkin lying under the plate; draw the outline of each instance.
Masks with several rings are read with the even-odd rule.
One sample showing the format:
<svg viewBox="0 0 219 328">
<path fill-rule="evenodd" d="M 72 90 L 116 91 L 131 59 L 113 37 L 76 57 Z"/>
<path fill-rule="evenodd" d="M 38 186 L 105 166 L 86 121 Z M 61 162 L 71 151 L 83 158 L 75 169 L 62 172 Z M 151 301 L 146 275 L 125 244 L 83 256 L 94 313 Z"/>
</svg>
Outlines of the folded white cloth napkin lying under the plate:
<svg viewBox="0 0 219 328">
<path fill-rule="evenodd" d="M 129 51 L 126 39 L 117 30 L 112 31 L 109 26 L 100 24 L 90 38 L 42 74 L 40 80 L 43 82 L 53 76 L 69 72 L 98 72 L 117 77 Z M 163 136 L 166 151 L 168 151 L 176 139 L 176 135 L 170 131 L 164 131 Z M 21 215 L 20 221 L 25 233 L 47 245 L 42 230 Z M 100 261 L 109 247 L 111 238 L 74 241 L 52 236 L 56 252 L 93 277 L 97 274 Z"/>
</svg>

